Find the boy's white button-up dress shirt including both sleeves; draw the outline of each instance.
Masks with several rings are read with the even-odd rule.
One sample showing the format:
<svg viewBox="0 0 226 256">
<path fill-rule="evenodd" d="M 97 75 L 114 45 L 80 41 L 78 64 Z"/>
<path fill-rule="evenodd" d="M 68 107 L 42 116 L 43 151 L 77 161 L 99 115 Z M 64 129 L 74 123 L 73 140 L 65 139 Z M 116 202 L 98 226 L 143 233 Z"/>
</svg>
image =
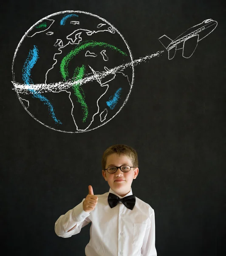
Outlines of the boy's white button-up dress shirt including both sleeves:
<svg viewBox="0 0 226 256">
<path fill-rule="evenodd" d="M 111 188 L 109 192 L 122 198 Z M 152 207 L 136 197 L 133 210 L 122 202 L 110 208 L 107 202 L 109 192 L 96 195 L 98 203 L 91 212 L 83 210 L 83 198 L 80 204 L 61 215 L 55 223 L 57 236 L 71 237 L 92 222 L 90 241 L 85 247 L 86 256 L 157 256 Z M 132 188 L 125 196 L 128 195 L 133 195 Z M 68 232 L 72 227 L 74 229 Z"/>
</svg>

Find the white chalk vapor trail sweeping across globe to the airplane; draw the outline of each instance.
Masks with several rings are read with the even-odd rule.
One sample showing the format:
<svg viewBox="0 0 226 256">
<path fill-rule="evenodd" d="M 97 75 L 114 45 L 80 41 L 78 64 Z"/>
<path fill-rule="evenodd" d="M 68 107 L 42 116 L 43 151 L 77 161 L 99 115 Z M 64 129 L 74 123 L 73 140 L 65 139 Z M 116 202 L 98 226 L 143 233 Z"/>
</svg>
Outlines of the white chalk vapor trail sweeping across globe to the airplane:
<svg viewBox="0 0 226 256">
<path fill-rule="evenodd" d="M 122 64 L 118 67 L 114 67 L 112 69 L 109 69 L 107 71 L 103 72 L 96 72 L 96 75 L 98 76 L 99 79 L 103 79 L 104 77 L 115 74 L 116 72 L 121 72 L 127 67 L 131 67 L 132 65 L 138 65 L 141 62 L 145 62 L 153 57 L 159 57 L 161 53 L 163 53 L 164 50 L 158 51 L 156 53 L 153 53 L 151 55 L 147 55 L 145 57 L 141 57 L 137 60 L 127 62 L 125 64 Z M 17 90 L 18 93 L 24 93 L 24 94 L 29 94 L 31 90 L 37 90 L 40 93 L 42 92 L 59 92 L 60 90 L 66 90 L 72 86 L 75 86 L 76 84 L 79 84 L 80 86 L 82 84 L 85 84 L 89 81 L 94 81 L 96 80 L 96 75 L 94 76 L 93 73 L 86 74 L 83 79 L 79 79 L 77 81 L 73 81 L 73 79 L 68 79 L 68 81 L 60 81 L 57 83 L 50 83 L 50 84 L 20 84 L 13 82 L 14 88 L 13 90 Z"/>
</svg>

